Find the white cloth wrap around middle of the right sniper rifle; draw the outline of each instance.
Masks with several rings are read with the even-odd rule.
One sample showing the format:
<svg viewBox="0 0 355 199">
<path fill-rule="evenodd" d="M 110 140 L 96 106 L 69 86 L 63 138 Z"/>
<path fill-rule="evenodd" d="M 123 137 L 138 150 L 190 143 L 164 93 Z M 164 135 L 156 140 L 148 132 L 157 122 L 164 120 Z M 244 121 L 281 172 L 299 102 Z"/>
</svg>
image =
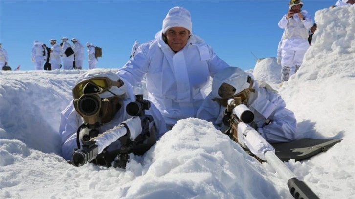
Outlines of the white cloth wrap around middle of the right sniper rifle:
<svg viewBox="0 0 355 199">
<path fill-rule="evenodd" d="M 247 148 L 262 160 L 266 160 L 264 154 L 267 151 L 275 153 L 274 147 L 271 146 L 255 129 L 241 122 L 238 124 L 238 141 L 241 140 L 239 132 L 242 131 L 243 141 Z"/>
</svg>

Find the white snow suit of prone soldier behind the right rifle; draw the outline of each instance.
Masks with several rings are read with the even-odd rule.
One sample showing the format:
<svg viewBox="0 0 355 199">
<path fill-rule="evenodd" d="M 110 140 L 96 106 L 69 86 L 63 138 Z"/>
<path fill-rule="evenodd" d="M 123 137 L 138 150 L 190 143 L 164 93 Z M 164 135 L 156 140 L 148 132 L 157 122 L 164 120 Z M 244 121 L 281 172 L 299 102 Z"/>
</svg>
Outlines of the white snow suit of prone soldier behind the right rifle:
<svg viewBox="0 0 355 199">
<path fill-rule="evenodd" d="M 198 118 L 212 122 L 219 130 L 225 128 L 222 119 L 226 107 L 220 106 L 218 102 L 212 99 L 220 98 L 218 96 L 218 88 L 224 82 L 237 88 L 237 72 L 244 72 L 235 67 L 230 68 L 229 70 L 223 70 L 224 74 L 220 75 L 220 73 L 217 78 L 213 79 L 213 85 L 216 86 L 212 88 L 213 90 L 203 101 L 197 113 Z M 295 140 L 297 122 L 293 112 L 285 108 L 285 101 L 276 91 L 266 83 L 264 85 L 266 86 L 259 86 L 254 81 L 252 88 L 255 89 L 255 93 L 252 92 L 249 95 L 247 104 L 245 104 L 254 113 L 254 123 L 251 123 L 250 126 L 254 127 L 270 143 Z M 263 127 L 263 124 L 267 123 L 268 120 L 271 122 Z"/>
</svg>

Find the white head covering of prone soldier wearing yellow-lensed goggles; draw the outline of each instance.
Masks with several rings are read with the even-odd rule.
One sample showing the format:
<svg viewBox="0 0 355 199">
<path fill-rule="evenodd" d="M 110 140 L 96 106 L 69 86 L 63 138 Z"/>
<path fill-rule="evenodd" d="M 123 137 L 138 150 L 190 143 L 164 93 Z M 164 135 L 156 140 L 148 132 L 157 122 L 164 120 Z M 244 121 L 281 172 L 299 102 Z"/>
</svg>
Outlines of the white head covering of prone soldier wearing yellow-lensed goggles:
<svg viewBox="0 0 355 199">
<path fill-rule="evenodd" d="M 112 81 L 118 81 L 120 79 L 117 74 L 115 74 L 110 70 L 95 68 L 80 75 L 76 80 L 75 84 L 78 84 L 84 80 L 89 80 L 91 78 L 98 78 L 98 77 L 108 77 Z M 111 91 L 117 96 L 123 95 L 126 93 L 126 83 L 119 88 L 117 86 L 113 86 L 109 91 Z M 99 96 L 100 98 L 110 98 L 114 96 L 112 93 L 106 91 L 104 93 L 99 94 Z"/>
</svg>

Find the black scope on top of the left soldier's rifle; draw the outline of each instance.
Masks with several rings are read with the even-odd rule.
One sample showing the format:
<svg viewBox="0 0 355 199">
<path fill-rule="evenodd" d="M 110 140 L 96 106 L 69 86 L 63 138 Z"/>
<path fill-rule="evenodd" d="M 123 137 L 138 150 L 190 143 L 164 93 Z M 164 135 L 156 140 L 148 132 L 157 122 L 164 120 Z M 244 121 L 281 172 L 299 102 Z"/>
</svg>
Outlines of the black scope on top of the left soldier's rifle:
<svg viewBox="0 0 355 199">
<path fill-rule="evenodd" d="M 145 110 L 150 107 L 150 101 L 144 100 L 143 95 L 135 95 L 135 101 L 127 104 L 126 112 L 131 116 L 143 116 L 145 115 Z"/>
</svg>

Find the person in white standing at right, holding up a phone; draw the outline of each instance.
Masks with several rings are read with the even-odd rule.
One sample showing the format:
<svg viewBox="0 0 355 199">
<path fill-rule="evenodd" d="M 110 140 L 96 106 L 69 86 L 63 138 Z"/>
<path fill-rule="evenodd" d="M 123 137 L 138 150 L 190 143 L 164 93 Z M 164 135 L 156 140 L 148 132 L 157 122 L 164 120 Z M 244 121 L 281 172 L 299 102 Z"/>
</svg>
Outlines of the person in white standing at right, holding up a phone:
<svg viewBox="0 0 355 199">
<path fill-rule="evenodd" d="M 288 81 L 289 76 L 296 73 L 302 64 L 303 57 L 310 47 L 308 29 L 313 26 L 313 20 L 308 12 L 301 11 L 303 2 L 291 0 L 288 14 L 279 21 L 279 27 L 285 29 L 281 43 L 281 81 Z"/>
</svg>

